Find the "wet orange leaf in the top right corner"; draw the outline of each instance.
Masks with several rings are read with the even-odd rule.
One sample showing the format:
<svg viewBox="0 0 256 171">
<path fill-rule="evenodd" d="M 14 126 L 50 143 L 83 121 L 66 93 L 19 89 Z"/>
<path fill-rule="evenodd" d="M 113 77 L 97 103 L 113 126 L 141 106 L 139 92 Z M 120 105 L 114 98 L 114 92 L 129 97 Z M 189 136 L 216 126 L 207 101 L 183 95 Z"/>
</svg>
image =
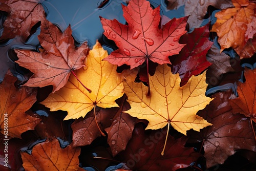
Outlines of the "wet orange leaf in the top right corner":
<svg viewBox="0 0 256 171">
<path fill-rule="evenodd" d="M 248 0 L 232 0 L 234 8 L 224 9 L 216 13 L 217 21 L 212 26 L 212 30 L 217 32 L 221 45 L 221 52 L 225 48 L 233 48 L 240 55 L 239 47 L 244 47 L 246 41 L 250 38 L 247 36 L 247 30 L 250 29 L 252 19 L 256 17 L 254 9 L 255 3 L 249 3 Z"/>
</svg>

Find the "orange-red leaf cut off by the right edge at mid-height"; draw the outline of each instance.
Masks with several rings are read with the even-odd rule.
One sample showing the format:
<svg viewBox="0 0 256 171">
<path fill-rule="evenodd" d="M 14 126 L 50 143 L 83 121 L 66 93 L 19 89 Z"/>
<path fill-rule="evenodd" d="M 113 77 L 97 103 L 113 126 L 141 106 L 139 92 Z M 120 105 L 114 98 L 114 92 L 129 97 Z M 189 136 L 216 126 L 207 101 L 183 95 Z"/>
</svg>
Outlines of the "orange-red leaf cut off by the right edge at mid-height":
<svg viewBox="0 0 256 171">
<path fill-rule="evenodd" d="M 246 68 L 244 76 L 245 82 L 238 82 L 238 98 L 228 101 L 233 113 L 244 114 L 256 122 L 256 69 Z"/>
</svg>

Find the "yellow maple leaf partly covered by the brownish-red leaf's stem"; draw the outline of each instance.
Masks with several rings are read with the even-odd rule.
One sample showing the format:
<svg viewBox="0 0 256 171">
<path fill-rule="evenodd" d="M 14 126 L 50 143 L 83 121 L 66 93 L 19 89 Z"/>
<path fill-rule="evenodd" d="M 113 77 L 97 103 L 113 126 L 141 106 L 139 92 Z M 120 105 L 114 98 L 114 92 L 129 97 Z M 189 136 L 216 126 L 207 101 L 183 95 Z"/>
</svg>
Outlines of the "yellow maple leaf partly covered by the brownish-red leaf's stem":
<svg viewBox="0 0 256 171">
<path fill-rule="evenodd" d="M 125 70 L 117 73 L 116 65 L 108 61 L 102 61 L 108 56 L 108 53 L 101 47 L 97 41 L 93 49 L 89 52 L 83 67 L 74 71 L 79 80 L 92 90 L 89 93 L 76 79 L 74 75 L 63 88 L 41 102 L 51 109 L 51 111 L 68 111 L 64 120 L 84 117 L 96 105 L 101 108 L 118 107 L 116 99 L 122 97 L 123 77 L 131 80 L 136 78 L 138 70 Z"/>
</svg>

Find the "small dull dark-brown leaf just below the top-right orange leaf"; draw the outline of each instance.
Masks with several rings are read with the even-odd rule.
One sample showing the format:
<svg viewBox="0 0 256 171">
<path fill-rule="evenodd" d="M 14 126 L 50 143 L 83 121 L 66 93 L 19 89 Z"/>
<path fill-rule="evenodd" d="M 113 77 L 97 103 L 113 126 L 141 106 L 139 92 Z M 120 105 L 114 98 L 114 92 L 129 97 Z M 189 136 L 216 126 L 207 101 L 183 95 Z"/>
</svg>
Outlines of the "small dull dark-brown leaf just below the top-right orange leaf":
<svg viewBox="0 0 256 171">
<path fill-rule="evenodd" d="M 215 77 L 219 80 L 221 74 L 234 72 L 230 64 L 230 57 L 224 52 L 220 53 L 220 49 L 216 45 L 211 46 L 207 53 L 207 60 L 212 63 L 207 70 L 209 77 Z"/>
</svg>

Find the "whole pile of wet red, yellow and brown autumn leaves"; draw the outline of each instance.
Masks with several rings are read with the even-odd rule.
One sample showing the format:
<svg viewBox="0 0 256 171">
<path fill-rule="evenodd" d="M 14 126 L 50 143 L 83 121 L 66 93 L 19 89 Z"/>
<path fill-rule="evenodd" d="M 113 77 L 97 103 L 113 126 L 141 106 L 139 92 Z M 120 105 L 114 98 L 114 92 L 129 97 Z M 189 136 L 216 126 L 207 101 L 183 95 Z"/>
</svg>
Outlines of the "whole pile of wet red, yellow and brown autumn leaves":
<svg viewBox="0 0 256 171">
<path fill-rule="evenodd" d="M 235 153 L 255 169 L 256 4 L 168 1 L 186 16 L 145 0 L 122 5 L 126 24 L 99 16 L 108 54 L 75 46 L 40 1 L 0 0 L 2 43 L 40 27 L 39 49 L 13 50 L 26 81 L 3 69 L 1 169 L 217 170 Z"/>
</svg>

